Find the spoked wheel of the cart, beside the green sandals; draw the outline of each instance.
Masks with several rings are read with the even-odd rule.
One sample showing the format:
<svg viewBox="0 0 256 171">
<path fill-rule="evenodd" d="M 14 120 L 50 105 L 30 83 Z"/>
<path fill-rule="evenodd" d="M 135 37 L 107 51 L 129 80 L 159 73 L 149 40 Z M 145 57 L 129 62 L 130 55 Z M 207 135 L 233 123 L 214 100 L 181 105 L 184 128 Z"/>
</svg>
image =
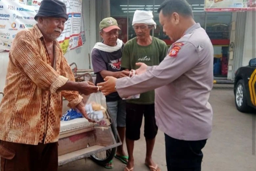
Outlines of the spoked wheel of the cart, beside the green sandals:
<svg viewBox="0 0 256 171">
<path fill-rule="evenodd" d="M 111 123 L 110 126 L 111 126 L 111 130 L 113 132 L 113 135 L 117 141 L 117 132 L 116 132 L 115 124 Z M 116 149 L 117 149 L 117 147 L 105 150 L 100 153 L 93 154 L 93 155 L 91 155 L 91 159 L 99 165 L 105 165 L 105 164 L 109 163 L 114 158 L 114 156 L 116 154 Z"/>
</svg>

